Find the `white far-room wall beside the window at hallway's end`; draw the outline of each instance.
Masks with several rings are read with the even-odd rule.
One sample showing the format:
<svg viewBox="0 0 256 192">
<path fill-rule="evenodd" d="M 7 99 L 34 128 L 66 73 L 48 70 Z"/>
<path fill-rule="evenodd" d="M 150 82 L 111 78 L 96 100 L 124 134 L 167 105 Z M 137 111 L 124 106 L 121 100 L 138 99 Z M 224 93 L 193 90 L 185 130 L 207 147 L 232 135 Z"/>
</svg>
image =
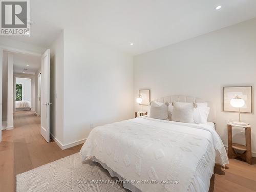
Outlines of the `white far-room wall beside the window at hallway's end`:
<svg viewBox="0 0 256 192">
<path fill-rule="evenodd" d="M 22 84 L 22 100 L 31 102 L 31 79 L 16 78 L 16 84 Z"/>
</svg>

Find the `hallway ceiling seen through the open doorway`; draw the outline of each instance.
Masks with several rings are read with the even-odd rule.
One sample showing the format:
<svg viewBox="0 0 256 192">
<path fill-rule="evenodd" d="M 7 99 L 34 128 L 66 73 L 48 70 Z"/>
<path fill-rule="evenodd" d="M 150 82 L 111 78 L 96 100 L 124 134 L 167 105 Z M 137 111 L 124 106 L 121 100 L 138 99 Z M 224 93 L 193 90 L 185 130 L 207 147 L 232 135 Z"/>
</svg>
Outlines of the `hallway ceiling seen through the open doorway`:
<svg viewBox="0 0 256 192">
<path fill-rule="evenodd" d="M 25 55 L 4 51 L 4 55 L 8 53 L 13 55 L 13 72 L 34 75 L 41 66 L 41 58 L 39 56 Z M 29 65 L 29 66 L 27 66 Z M 24 70 L 27 69 L 27 70 Z"/>
</svg>

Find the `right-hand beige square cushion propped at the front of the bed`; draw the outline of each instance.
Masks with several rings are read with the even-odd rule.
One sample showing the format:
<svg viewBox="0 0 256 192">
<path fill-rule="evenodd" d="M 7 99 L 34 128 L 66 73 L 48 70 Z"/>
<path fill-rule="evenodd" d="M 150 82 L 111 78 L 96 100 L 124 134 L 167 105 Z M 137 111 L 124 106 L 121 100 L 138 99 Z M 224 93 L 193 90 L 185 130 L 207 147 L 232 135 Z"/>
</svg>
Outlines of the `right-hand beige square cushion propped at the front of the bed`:
<svg viewBox="0 0 256 192">
<path fill-rule="evenodd" d="M 173 102 L 172 121 L 194 123 L 195 103 Z"/>
</svg>

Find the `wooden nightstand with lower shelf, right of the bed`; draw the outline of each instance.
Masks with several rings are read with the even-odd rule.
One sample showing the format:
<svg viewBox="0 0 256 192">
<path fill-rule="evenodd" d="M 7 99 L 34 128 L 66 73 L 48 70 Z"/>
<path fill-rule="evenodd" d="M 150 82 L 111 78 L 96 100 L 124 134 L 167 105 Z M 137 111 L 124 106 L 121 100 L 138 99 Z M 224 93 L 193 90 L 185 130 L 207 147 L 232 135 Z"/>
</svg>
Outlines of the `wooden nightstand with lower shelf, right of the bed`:
<svg viewBox="0 0 256 192">
<path fill-rule="evenodd" d="M 245 129 L 245 143 L 246 145 L 241 145 L 238 143 L 232 143 L 232 127 L 243 127 Z M 244 161 L 251 164 L 251 125 L 238 126 L 231 122 L 227 123 L 227 139 L 228 139 L 228 158 L 241 157 Z M 236 153 L 234 150 L 242 151 L 242 154 Z"/>
</svg>

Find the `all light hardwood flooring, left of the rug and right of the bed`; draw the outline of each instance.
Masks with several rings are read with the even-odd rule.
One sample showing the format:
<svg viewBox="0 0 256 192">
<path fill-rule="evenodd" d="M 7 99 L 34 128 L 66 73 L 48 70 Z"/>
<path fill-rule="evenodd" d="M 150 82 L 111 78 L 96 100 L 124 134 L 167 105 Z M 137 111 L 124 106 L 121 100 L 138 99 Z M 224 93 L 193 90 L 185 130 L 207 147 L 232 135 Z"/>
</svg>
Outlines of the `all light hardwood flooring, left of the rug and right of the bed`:
<svg viewBox="0 0 256 192">
<path fill-rule="evenodd" d="M 0 191 L 16 191 L 15 176 L 30 169 L 77 153 L 82 145 L 61 150 L 40 135 L 40 118 L 31 112 L 14 115 L 14 130 L 2 132 L 0 143 Z M 256 158 L 252 165 L 230 159 L 228 168 L 215 167 L 209 191 L 256 191 Z"/>
</svg>

